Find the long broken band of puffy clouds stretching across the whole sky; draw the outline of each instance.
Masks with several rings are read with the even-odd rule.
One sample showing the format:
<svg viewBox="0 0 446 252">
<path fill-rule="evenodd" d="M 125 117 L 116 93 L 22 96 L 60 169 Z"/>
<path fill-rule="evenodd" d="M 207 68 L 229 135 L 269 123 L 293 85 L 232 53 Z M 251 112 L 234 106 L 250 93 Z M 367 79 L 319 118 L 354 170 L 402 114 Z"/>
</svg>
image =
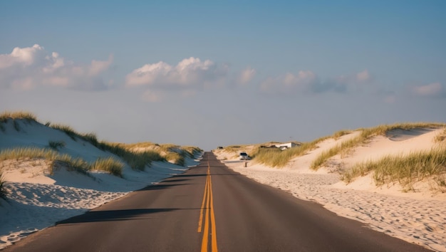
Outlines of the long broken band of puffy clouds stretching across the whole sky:
<svg viewBox="0 0 446 252">
<path fill-rule="evenodd" d="M 60 56 L 48 53 L 43 46 L 16 47 L 11 53 L 0 54 L 0 88 L 33 90 L 41 86 L 98 91 L 113 87 L 113 79 L 105 80 L 105 73 L 113 63 L 113 54 L 106 61 L 91 60 L 90 64 L 76 64 Z M 192 97 L 212 88 L 225 88 L 231 84 L 246 86 L 264 95 L 294 97 L 299 94 L 318 93 L 380 93 L 378 81 L 368 70 L 348 75 L 338 75 L 321 80 L 312 70 L 299 70 L 275 77 L 256 80 L 255 68 L 248 66 L 232 70 L 229 64 L 202 61 L 190 57 L 176 65 L 159 61 L 146 63 L 125 75 L 126 88 L 142 88 L 142 100 L 161 102 L 167 97 Z M 119 85 L 119 83 L 117 83 Z M 234 85 L 231 85 L 234 86 Z M 405 85 L 405 90 L 387 91 L 383 99 L 395 103 L 398 95 L 410 94 L 420 98 L 446 98 L 445 85 L 440 82 Z M 390 93 L 390 95 L 389 95 Z"/>
</svg>

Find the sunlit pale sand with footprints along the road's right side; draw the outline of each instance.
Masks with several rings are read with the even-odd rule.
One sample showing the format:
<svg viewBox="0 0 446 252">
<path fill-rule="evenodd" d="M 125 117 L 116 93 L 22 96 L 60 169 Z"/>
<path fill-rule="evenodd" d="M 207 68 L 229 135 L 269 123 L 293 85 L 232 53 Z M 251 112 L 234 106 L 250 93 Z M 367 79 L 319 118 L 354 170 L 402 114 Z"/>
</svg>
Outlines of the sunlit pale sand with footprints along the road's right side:
<svg viewBox="0 0 446 252">
<path fill-rule="evenodd" d="M 387 154 L 408 154 L 429 150 L 432 139 L 442 130 L 393 132 L 388 137 L 374 137 L 345 157 L 336 156 L 329 166 L 313 172 L 309 166 L 317 154 L 336 146 L 359 132 L 338 140 L 321 142 L 317 149 L 291 160 L 283 169 L 266 167 L 250 161 L 237 161 L 233 153 L 216 151 L 222 162 L 236 172 L 263 184 L 289 191 L 299 199 L 316 201 L 340 216 L 361 221 L 371 229 L 420 244 L 434 251 L 446 251 L 446 194 L 430 190 L 430 182 L 415 184 L 417 192 L 403 192 L 398 184 L 375 187 L 370 174 L 346 185 L 341 182 L 338 167 L 351 167 L 356 162 L 379 159 Z M 421 135 L 420 135 L 421 134 Z"/>
</svg>

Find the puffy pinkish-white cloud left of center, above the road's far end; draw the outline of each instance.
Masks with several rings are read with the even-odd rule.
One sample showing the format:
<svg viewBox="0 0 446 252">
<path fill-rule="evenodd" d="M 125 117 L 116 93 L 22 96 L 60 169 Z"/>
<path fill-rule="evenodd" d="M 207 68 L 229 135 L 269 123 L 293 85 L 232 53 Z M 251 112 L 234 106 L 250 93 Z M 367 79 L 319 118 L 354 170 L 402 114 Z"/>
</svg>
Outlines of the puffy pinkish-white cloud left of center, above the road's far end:
<svg viewBox="0 0 446 252">
<path fill-rule="evenodd" d="M 201 61 L 199 58 L 185 58 L 177 65 L 165 62 L 142 65 L 129 73 L 125 78 L 125 85 L 143 86 L 150 93 L 148 101 L 160 101 L 165 95 L 155 96 L 169 90 L 182 97 L 191 96 L 196 90 L 222 85 L 229 72 L 227 65 L 217 65 L 212 61 Z"/>
</svg>

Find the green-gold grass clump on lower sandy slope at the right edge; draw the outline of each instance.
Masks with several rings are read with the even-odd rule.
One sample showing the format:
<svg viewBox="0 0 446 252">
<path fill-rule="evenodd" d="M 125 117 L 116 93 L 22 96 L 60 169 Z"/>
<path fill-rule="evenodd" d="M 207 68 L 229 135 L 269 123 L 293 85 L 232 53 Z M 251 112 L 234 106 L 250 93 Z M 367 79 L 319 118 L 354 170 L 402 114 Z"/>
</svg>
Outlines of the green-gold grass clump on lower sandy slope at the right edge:
<svg viewBox="0 0 446 252">
<path fill-rule="evenodd" d="M 408 155 L 386 156 L 378 161 L 356 164 L 342 175 L 346 183 L 356 177 L 373 173 L 376 185 L 398 182 L 404 190 L 414 190 L 413 184 L 425 178 L 432 178 L 437 187 L 446 190 L 446 147 L 437 147 L 427 152 L 413 152 Z"/>
</svg>

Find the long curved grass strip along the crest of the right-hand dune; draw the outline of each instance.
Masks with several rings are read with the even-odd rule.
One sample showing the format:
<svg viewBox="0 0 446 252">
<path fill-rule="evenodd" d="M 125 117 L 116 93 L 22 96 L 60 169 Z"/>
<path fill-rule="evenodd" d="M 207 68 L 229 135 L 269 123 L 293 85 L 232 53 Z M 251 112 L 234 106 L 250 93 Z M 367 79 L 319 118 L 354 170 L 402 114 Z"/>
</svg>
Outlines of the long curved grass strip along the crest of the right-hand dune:
<svg viewBox="0 0 446 252">
<path fill-rule="evenodd" d="M 413 130 L 417 128 L 438 128 L 444 127 L 444 123 L 432 123 L 432 122 L 415 122 L 415 123 L 397 123 L 393 125 L 379 125 L 377 127 L 363 128 L 361 130 L 361 135 L 355 137 L 351 140 L 341 142 L 341 144 L 322 152 L 316 159 L 311 163 L 310 168 L 317 170 L 323 164 L 325 164 L 328 159 L 336 154 L 346 153 L 358 145 L 366 143 L 370 140 L 370 137 L 376 135 L 385 135 L 390 130 Z"/>
</svg>

